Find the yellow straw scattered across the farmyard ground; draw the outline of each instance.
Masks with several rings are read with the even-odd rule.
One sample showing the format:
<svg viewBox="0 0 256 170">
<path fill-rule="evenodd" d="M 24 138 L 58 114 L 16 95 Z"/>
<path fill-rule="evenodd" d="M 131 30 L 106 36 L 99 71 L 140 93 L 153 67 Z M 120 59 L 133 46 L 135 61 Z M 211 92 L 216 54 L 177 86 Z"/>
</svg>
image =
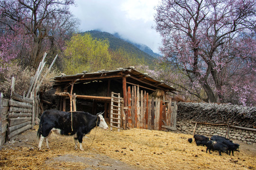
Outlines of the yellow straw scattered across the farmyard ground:
<svg viewBox="0 0 256 170">
<path fill-rule="evenodd" d="M 95 128 L 87 137 L 83 138 L 84 149 L 92 143 Z M 36 134 L 35 134 L 36 137 Z M 172 132 L 131 129 L 117 132 L 97 128 L 95 140 L 85 151 L 74 150 L 72 137 L 63 137 L 53 134 L 50 139 L 50 150 L 43 143 L 43 151 L 36 148 L 35 140 L 31 147 L 4 147 L 0 151 L 0 169 L 5 170 L 84 170 L 99 169 L 84 162 L 56 161 L 62 155 L 92 157 L 91 153 L 107 155 L 113 159 L 130 164 L 140 170 L 248 170 L 256 168 L 255 153 L 248 153 L 240 149 L 235 156 L 218 152 L 206 153 L 206 147 L 189 143 L 192 135 L 176 134 Z M 254 146 L 252 146 L 254 147 Z M 50 163 L 48 162 L 50 160 Z M 45 163 L 47 161 L 47 163 Z M 107 163 L 107 162 L 106 162 Z"/>
</svg>

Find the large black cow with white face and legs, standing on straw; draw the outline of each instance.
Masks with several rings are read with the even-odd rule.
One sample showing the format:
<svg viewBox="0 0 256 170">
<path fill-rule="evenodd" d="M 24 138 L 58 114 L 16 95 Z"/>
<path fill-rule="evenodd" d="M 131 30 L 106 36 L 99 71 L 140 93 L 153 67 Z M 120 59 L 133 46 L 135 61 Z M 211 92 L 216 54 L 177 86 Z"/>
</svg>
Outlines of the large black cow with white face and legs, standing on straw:
<svg viewBox="0 0 256 170">
<path fill-rule="evenodd" d="M 83 151 L 83 136 L 88 134 L 91 129 L 96 126 L 108 129 L 105 119 L 101 114 L 103 113 L 92 115 L 88 112 L 75 111 L 72 112 L 71 119 L 71 112 L 60 110 L 45 110 L 41 116 L 39 128 L 37 131 L 37 137 L 40 138 L 38 144 L 39 150 L 41 150 L 44 138 L 47 148 L 50 149 L 48 138 L 51 135 L 51 132 L 55 131 L 60 135 L 74 136 L 75 149 L 78 148 L 79 141 L 80 150 Z"/>
</svg>

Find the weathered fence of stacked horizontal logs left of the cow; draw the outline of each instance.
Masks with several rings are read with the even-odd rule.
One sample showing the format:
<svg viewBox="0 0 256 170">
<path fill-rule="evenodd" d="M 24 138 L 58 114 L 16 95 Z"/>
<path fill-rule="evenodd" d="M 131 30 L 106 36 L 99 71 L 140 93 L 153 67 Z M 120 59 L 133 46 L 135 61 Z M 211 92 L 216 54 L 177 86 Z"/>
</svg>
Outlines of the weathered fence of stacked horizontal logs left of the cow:
<svg viewBox="0 0 256 170">
<path fill-rule="evenodd" d="M 30 98 L 14 92 L 15 78 L 12 79 L 10 99 L 0 93 L 0 147 L 7 141 L 35 125 L 39 112 L 39 96 L 31 93 Z"/>
</svg>

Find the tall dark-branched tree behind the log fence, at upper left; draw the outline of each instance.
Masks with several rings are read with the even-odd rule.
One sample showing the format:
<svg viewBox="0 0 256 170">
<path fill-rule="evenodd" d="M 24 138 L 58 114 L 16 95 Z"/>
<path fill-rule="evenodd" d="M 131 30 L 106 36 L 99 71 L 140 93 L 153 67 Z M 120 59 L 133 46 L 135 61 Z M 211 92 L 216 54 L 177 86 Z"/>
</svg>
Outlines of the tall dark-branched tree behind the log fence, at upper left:
<svg viewBox="0 0 256 170">
<path fill-rule="evenodd" d="M 78 20 L 72 17 L 69 10 L 69 6 L 73 4 L 74 0 L 1 0 L 1 40 L 4 41 L 7 34 L 17 36 L 17 28 L 23 30 L 20 36 L 29 40 L 26 46 L 18 48 L 22 52 L 16 51 L 15 54 L 9 51 L 9 54 L 18 54 L 21 63 L 34 68 L 37 68 L 44 52 L 53 54 L 48 54 L 47 57 L 54 57 L 54 53 L 62 50 L 65 38 L 78 24 Z M 0 44 L 6 43 L 2 41 Z M 2 53 L 2 58 L 12 58 L 10 56 Z"/>
</svg>

